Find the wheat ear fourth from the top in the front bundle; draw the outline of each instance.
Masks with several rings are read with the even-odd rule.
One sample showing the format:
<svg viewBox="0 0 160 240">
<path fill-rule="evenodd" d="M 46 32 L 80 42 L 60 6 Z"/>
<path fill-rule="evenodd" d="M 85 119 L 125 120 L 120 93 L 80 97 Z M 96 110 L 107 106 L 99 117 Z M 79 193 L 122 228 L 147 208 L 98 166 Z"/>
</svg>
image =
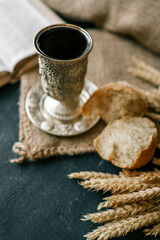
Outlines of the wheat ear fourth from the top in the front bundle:
<svg viewBox="0 0 160 240">
<path fill-rule="evenodd" d="M 107 211 L 98 212 L 98 213 L 90 213 L 84 215 L 81 220 L 87 221 L 91 220 L 94 223 L 103 223 L 106 221 L 117 220 L 122 218 L 127 218 L 129 216 L 134 216 L 137 214 L 142 214 L 155 206 L 160 202 L 160 199 L 155 201 L 142 201 L 141 203 L 133 203 L 128 205 L 123 205 L 121 207 L 117 207 L 115 209 L 109 209 Z"/>
</svg>

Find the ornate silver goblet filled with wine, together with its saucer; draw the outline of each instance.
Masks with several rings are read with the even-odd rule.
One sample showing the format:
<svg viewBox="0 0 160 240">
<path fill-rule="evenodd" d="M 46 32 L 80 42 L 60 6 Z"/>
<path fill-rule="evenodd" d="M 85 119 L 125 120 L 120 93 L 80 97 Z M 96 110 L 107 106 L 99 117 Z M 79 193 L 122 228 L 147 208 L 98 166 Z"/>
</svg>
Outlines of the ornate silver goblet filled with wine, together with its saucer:
<svg viewBox="0 0 160 240">
<path fill-rule="evenodd" d="M 85 79 L 93 46 L 90 34 L 75 25 L 56 24 L 40 30 L 34 44 L 41 84 L 34 85 L 27 95 L 30 120 L 58 136 L 87 131 L 98 121 L 95 116 L 86 119 L 81 115 L 82 105 L 97 88 Z"/>
</svg>

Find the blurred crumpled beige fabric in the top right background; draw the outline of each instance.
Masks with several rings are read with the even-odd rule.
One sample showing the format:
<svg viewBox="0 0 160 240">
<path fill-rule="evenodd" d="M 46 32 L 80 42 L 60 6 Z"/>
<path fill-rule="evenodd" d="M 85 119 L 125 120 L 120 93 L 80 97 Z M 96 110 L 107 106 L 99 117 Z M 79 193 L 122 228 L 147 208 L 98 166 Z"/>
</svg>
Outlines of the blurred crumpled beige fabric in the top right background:
<svg viewBox="0 0 160 240">
<path fill-rule="evenodd" d="M 63 16 L 130 35 L 160 53 L 160 1 L 157 0 L 43 0 Z"/>
</svg>

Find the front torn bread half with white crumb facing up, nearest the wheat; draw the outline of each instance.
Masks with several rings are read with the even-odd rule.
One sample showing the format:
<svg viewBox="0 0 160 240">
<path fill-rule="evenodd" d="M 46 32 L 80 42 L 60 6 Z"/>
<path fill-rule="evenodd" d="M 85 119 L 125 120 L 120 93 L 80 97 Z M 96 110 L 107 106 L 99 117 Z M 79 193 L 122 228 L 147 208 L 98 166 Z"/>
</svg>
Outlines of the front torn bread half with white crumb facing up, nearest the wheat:
<svg viewBox="0 0 160 240">
<path fill-rule="evenodd" d="M 148 118 L 124 117 L 109 123 L 94 140 L 98 154 L 114 165 L 140 168 L 153 157 L 157 139 L 155 124 Z"/>
</svg>

